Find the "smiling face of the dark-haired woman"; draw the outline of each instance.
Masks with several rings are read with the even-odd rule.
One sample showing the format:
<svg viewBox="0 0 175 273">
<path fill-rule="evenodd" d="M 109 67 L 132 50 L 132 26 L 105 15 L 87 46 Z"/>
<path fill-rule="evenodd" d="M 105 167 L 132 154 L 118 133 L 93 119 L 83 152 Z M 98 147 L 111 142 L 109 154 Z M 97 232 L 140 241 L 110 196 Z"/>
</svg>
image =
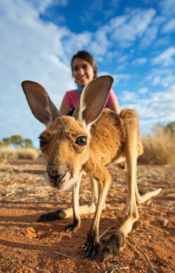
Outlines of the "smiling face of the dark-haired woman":
<svg viewBox="0 0 175 273">
<path fill-rule="evenodd" d="M 76 83 L 80 86 L 84 87 L 88 82 L 93 80 L 93 68 L 90 63 L 84 59 L 75 58 L 72 63 L 72 71 Z"/>
</svg>

